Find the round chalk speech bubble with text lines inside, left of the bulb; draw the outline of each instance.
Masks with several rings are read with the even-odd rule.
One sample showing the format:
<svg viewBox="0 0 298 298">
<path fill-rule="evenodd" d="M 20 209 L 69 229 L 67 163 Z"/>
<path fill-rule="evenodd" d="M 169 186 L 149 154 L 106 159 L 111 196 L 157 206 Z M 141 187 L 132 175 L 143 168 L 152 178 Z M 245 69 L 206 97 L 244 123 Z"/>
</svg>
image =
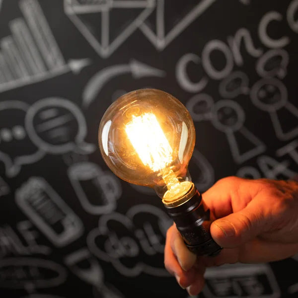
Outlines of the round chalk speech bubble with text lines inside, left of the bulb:
<svg viewBox="0 0 298 298">
<path fill-rule="evenodd" d="M 70 100 L 50 97 L 37 101 L 27 111 L 25 127 L 31 141 L 52 154 L 94 152 L 87 144 L 87 124 L 80 109 Z"/>
</svg>

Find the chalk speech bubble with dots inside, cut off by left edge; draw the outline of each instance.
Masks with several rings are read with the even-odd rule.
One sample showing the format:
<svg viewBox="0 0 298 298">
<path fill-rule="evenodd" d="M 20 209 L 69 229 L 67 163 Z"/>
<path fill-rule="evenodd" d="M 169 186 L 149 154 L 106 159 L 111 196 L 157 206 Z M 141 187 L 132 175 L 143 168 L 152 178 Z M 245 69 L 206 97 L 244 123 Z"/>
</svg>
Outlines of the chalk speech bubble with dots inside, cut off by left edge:
<svg viewBox="0 0 298 298">
<path fill-rule="evenodd" d="M 21 166 L 41 159 L 45 153 L 29 139 L 24 121 L 29 105 L 9 100 L 0 102 L 0 160 L 8 178 L 16 176 Z"/>
</svg>

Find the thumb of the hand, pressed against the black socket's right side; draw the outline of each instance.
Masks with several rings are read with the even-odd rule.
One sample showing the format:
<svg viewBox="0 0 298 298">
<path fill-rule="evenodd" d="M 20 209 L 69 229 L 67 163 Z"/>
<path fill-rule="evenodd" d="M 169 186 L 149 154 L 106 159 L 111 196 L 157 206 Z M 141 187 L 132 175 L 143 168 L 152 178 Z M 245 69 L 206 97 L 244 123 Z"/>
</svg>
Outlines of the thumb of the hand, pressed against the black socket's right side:
<svg viewBox="0 0 298 298">
<path fill-rule="evenodd" d="M 262 233 L 266 224 L 260 206 L 251 206 L 213 222 L 211 235 L 220 246 L 233 248 Z"/>
</svg>

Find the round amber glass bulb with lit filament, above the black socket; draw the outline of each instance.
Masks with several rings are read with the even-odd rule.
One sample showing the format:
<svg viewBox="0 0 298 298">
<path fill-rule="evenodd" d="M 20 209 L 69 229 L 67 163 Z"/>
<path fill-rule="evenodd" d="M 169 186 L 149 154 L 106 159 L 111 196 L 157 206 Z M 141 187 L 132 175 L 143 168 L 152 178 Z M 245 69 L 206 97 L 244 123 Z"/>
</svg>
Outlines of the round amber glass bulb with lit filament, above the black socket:
<svg viewBox="0 0 298 298">
<path fill-rule="evenodd" d="M 140 89 L 121 96 L 105 112 L 98 139 L 104 161 L 119 178 L 151 187 L 167 202 L 193 188 L 187 166 L 195 128 L 172 95 Z"/>
</svg>

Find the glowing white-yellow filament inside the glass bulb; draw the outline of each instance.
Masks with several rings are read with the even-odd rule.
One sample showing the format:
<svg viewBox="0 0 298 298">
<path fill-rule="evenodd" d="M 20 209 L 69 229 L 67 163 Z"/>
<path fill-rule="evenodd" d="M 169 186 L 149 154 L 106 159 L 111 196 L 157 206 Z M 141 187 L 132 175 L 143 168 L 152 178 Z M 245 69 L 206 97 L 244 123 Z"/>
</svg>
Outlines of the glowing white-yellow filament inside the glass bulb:
<svg viewBox="0 0 298 298">
<path fill-rule="evenodd" d="M 133 116 L 125 131 L 142 162 L 154 172 L 173 161 L 173 150 L 152 113 Z"/>
</svg>

